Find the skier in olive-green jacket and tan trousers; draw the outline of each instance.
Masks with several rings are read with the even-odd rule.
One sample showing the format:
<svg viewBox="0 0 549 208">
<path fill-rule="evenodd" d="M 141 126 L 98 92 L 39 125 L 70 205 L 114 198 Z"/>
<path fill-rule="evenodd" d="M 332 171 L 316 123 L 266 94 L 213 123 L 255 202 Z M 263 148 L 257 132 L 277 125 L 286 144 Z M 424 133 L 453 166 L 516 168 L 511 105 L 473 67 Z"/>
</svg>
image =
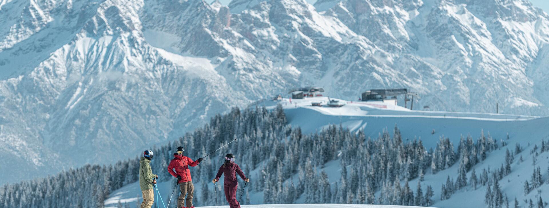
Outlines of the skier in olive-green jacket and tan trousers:
<svg viewBox="0 0 549 208">
<path fill-rule="evenodd" d="M 153 184 L 156 184 L 157 175 L 150 168 L 150 160 L 153 159 L 153 151 L 146 150 L 139 160 L 139 186 L 143 194 L 141 208 L 150 208 L 154 203 Z"/>
</svg>

